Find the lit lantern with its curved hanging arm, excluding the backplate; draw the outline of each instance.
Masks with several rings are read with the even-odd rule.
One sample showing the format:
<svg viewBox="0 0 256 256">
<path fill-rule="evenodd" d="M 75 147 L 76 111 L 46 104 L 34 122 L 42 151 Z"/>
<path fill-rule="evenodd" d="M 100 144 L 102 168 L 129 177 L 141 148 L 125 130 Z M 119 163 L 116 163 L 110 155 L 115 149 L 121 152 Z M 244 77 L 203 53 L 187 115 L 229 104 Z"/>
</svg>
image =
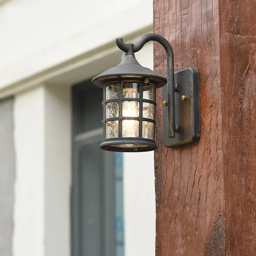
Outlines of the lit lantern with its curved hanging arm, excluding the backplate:
<svg viewBox="0 0 256 256">
<path fill-rule="evenodd" d="M 135 58 L 134 53 L 151 40 L 162 44 L 167 53 L 167 79 L 142 67 Z M 124 44 L 122 38 L 117 38 L 116 44 L 125 52 L 123 60 L 92 79 L 94 85 L 103 88 L 103 140 L 100 148 L 120 152 L 155 150 L 156 89 L 163 87 L 167 80 L 168 92 L 164 101 L 167 137 L 174 138 L 179 130 L 174 118 L 174 92 L 180 87 L 174 83 L 172 47 L 164 37 L 156 34 L 141 37 L 135 45 Z"/>
</svg>

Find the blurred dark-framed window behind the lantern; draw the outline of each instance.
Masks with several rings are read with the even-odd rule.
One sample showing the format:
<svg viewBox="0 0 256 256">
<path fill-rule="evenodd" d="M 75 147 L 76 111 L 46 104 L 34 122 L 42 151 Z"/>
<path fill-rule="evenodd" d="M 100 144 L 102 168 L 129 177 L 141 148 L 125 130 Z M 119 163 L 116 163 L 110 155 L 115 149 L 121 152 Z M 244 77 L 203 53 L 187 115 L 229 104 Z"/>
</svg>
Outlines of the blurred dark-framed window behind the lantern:
<svg viewBox="0 0 256 256">
<path fill-rule="evenodd" d="M 72 89 L 72 256 L 124 256 L 123 155 L 101 150 L 102 90 Z"/>
</svg>

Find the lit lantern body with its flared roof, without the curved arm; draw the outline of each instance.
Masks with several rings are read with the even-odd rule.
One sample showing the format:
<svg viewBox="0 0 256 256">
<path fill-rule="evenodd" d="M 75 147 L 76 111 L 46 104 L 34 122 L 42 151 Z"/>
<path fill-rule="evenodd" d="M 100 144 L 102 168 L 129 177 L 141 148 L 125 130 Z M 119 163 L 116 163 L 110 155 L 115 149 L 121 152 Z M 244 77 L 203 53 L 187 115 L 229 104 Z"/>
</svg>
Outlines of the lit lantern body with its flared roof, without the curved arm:
<svg viewBox="0 0 256 256">
<path fill-rule="evenodd" d="M 103 88 L 100 147 L 122 152 L 156 149 L 156 88 L 165 85 L 166 78 L 142 67 L 134 53 L 126 53 L 118 66 L 94 77 L 92 83 Z"/>
</svg>

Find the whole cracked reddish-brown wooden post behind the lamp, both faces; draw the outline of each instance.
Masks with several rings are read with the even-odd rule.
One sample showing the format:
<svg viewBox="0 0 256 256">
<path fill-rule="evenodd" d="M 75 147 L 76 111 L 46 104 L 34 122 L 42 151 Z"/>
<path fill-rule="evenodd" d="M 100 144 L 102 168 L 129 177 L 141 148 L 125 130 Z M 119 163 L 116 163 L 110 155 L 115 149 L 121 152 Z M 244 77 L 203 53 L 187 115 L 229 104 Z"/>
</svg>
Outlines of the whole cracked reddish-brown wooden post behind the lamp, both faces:
<svg viewBox="0 0 256 256">
<path fill-rule="evenodd" d="M 198 68 L 201 104 L 199 143 L 165 148 L 157 91 L 156 255 L 256 255 L 256 0 L 155 0 L 154 32 Z"/>
</svg>

